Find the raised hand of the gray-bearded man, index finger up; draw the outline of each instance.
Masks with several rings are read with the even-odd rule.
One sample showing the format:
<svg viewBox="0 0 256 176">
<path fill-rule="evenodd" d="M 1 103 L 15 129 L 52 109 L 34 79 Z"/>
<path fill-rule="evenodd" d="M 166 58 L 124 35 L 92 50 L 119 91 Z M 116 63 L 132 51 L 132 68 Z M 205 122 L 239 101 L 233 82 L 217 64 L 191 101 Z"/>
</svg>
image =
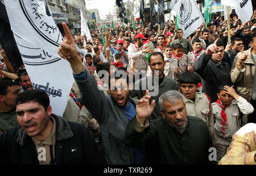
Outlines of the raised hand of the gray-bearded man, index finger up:
<svg viewBox="0 0 256 176">
<path fill-rule="evenodd" d="M 144 123 L 147 117 L 152 114 L 152 111 L 155 108 L 155 100 L 149 103 L 151 96 L 149 96 L 149 91 L 146 90 L 146 94 L 137 101 L 136 104 L 136 113 L 139 119 L 139 122 Z"/>
</svg>

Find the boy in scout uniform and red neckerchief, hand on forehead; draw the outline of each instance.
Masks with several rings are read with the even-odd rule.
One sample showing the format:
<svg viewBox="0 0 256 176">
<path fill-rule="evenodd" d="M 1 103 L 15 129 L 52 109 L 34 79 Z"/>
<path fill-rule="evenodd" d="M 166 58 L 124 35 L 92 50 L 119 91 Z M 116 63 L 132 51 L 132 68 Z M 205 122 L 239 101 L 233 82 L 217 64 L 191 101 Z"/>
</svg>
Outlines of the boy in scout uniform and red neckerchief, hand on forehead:
<svg viewBox="0 0 256 176">
<path fill-rule="evenodd" d="M 217 147 L 217 162 L 225 155 L 232 136 L 243 125 L 243 114 L 251 114 L 253 106 L 239 96 L 233 87 L 221 85 L 218 88 L 218 100 L 212 104 L 214 118 L 214 142 Z"/>
</svg>

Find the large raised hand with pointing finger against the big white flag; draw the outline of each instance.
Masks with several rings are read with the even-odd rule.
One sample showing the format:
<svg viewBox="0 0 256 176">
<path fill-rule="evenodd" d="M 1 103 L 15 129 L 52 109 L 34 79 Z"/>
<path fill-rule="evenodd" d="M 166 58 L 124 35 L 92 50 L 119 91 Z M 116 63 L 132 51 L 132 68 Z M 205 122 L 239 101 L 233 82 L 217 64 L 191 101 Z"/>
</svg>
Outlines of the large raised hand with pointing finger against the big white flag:
<svg viewBox="0 0 256 176">
<path fill-rule="evenodd" d="M 82 61 L 77 53 L 75 41 L 72 38 L 72 34 L 69 31 L 67 24 L 62 23 L 62 25 L 67 38 L 60 43 L 58 54 L 61 58 L 66 59 L 70 63 L 73 72 L 79 73 L 84 67 L 82 66 Z"/>
</svg>

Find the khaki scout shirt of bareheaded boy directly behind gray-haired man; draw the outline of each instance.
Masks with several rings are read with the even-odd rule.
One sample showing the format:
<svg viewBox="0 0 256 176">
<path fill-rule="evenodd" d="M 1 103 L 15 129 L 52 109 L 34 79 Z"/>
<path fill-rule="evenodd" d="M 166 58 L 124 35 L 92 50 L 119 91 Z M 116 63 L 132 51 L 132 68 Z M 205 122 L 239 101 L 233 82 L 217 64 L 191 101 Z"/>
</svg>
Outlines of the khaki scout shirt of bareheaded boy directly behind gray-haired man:
<svg viewBox="0 0 256 176">
<path fill-rule="evenodd" d="M 187 115 L 202 119 L 209 128 L 210 134 L 214 133 L 214 119 L 210 116 L 212 103 L 205 93 L 196 92 L 195 102 L 185 97 Z"/>
</svg>

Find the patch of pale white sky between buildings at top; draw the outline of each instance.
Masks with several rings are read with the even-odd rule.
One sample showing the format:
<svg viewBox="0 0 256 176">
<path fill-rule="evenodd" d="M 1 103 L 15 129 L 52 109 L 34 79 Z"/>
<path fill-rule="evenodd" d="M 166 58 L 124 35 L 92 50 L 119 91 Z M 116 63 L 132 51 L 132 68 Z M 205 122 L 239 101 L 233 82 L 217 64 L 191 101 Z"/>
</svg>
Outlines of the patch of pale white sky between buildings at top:
<svg viewBox="0 0 256 176">
<path fill-rule="evenodd" d="M 123 2 L 126 2 L 124 0 Z M 98 8 L 98 12 L 100 13 L 100 18 L 105 19 L 106 14 L 112 14 L 114 10 L 115 0 L 85 0 L 86 9 Z"/>
</svg>

